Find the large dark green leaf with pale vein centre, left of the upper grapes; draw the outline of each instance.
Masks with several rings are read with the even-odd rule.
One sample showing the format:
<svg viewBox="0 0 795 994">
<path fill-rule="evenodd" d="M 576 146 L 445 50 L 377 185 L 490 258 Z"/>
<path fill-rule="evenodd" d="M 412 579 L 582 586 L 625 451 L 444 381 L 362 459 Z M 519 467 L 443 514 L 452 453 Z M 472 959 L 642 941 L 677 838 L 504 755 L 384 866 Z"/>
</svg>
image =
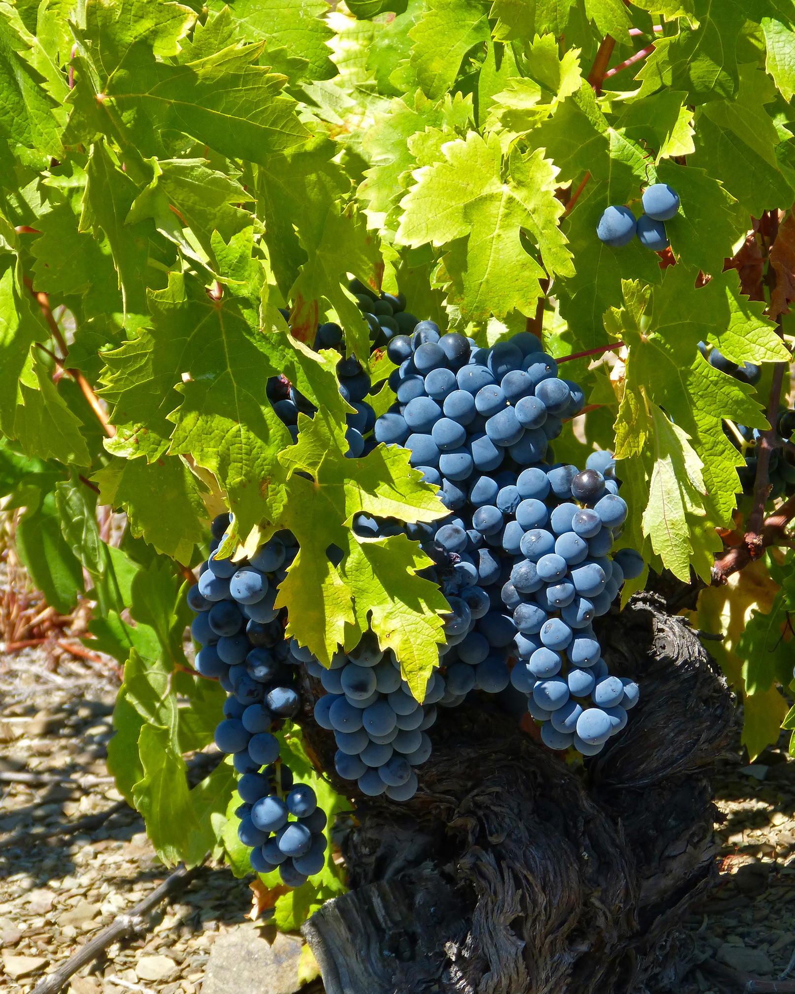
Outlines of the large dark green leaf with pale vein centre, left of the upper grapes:
<svg viewBox="0 0 795 994">
<path fill-rule="evenodd" d="M 245 536 L 262 517 L 260 487 L 275 454 L 290 443 L 265 397 L 265 380 L 279 371 L 268 361 L 256 308 L 242 297 L 214 301 L 173 272 L 149 304 L 151 329 L 105 355 L 102 393 L 117 427 L 106 447 L 150 462 L 169 450 L 192 455 L 228 491 Z"/>
</svg>

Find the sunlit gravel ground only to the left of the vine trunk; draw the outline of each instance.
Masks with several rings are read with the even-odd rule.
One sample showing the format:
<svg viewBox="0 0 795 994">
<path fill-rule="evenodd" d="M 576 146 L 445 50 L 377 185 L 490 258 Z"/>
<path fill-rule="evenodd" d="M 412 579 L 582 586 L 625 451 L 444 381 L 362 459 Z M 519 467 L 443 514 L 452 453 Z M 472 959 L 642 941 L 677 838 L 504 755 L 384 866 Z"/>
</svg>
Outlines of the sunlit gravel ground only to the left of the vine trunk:
<svg viewBox="0 0 795 994">
<path fill-rule="evenodd" d="M 0 655 L 0 988 L 9 994 L 32 990 L 170 872 L 125 805 L 93 831 L 39 838 L 121 801 L 105 766 L 117 680 L 81 660 L 64 657 L 57 674 L 45 662 L 30 649 Z M 63 781 L 8 781 L 20 771 Z M 145 934 L 83 968 L 75 994 L 195 994 L 214 941 L 244 920 L 250 898 L 248 880 L 204 868 Z"/>
</svg>

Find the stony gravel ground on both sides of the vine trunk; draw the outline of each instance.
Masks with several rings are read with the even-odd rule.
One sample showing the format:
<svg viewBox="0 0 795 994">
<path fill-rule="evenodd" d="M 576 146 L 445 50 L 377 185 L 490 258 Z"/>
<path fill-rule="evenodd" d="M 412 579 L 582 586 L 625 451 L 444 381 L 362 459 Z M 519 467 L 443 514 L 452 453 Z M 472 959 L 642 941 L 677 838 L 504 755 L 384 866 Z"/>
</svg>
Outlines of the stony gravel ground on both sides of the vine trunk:
<svg viewBox="0 0 795 994">
<path fill-rule="evenodd" d="M 168 876 L 143 821 L 119 804 L 105 766 L 117 687 L 116 676 L 95 662 L 65 655 L 54 673 L 41 650 L 0 655 L 0 988 L 9 994 L 27 994 Z M 720 964 L 773 978 L 795 961 L 795 762 L 788 735 L 753 766 L 743 766 L 739 746 L 720 765 L 719 881 L 684 922 L 699 964 L 690 990 L 721 994 Z M 60 782 L 11 779 L 20 772 Z M 119 810 L 98 828 L 45 837 L 114 806 Z M 111 945 L 84 967 L 73 978 L 74 994 L 197 994 L 213 943 L 245 920 L 248 883 L 224 867 L 205 867 L 160 907 L 145 933 Z M 321 990 L 317 983 L 304 989 Z"/>
</svg>

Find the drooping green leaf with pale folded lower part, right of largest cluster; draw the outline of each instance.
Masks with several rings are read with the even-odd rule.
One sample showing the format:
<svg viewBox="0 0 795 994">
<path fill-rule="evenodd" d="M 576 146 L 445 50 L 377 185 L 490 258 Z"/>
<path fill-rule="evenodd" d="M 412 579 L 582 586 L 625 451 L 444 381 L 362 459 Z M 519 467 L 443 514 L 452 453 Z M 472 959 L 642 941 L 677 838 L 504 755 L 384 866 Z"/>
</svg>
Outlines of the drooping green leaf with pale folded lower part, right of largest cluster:
<svg viewBox="0 0 795 994">
<path fill-rule="evenodd" d="M 652 547 L 677 576 L 687 580 L 692 564 L 709 580 L 712 556 L 721 548 L 713 529 L 731 522 L 739 489 L 735 466 L 744 461 L 725 437 L 722 419 L 754 427 L 767 422 L 750 399 L 752 389 L 698 353 L 705 329 L 688 315 L 708 311 L 723 328 L 744 325 L 750 338 L 767 332 L 768 322 L 761 303 L 737 293 L 733 271 L 698 289 L 694 282 L 684 266 L 667 269 L 659 288 L 626 282 L 625 307 L 608 311 L 604 323 L 630 346 L 615 453 L 626 460 L 621 472 L 626 465 L 633 473 L 632 499 L 644 506 L 642 534 L 654 531 Z M 714 283 L 703 297 L 696 296 Z M 664 408 L 672 422 L 663 424 L 654 406 Z"/>
</svg>

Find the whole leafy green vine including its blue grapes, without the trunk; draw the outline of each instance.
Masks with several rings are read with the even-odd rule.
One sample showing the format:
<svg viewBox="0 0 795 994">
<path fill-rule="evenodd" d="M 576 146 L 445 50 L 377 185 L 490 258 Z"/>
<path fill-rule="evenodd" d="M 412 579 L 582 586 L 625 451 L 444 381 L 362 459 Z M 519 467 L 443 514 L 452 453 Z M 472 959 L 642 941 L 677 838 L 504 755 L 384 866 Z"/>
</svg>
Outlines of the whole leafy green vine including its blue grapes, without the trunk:
<svg viewBox="0 0 795 994">
<path fill-rule="evenodd" d="M 441 709 L 608 754 L 591 623 L 647 585 L 725 636 L 749 754 L 795 727 L 795 11 L 331 6 L 0 10 L 3 510 L 123 667 L 161 857 L 284 928 Z"/>
</svg>

